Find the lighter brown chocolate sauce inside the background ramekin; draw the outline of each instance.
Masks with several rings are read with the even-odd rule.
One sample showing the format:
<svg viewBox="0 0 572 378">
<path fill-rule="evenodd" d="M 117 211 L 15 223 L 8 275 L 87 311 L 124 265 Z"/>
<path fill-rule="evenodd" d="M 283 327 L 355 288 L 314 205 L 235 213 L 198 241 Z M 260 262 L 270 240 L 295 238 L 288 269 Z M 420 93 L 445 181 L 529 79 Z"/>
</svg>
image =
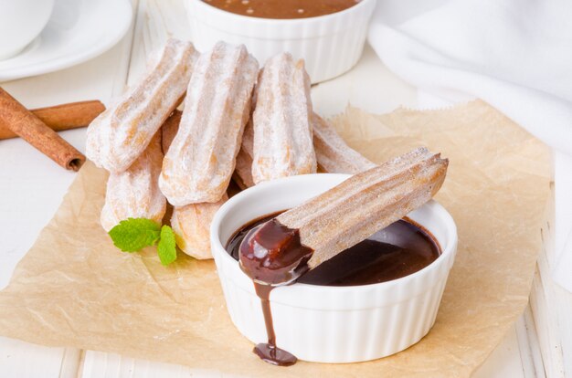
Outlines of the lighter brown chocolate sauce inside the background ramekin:
<svg viewBox="0 0 572 378">
<path fill-rule="evenodd" d="M 203 0 L 227 12 L 260 18 L 307 18 L 330 15 L 359 0 Z"/>
</svg>

